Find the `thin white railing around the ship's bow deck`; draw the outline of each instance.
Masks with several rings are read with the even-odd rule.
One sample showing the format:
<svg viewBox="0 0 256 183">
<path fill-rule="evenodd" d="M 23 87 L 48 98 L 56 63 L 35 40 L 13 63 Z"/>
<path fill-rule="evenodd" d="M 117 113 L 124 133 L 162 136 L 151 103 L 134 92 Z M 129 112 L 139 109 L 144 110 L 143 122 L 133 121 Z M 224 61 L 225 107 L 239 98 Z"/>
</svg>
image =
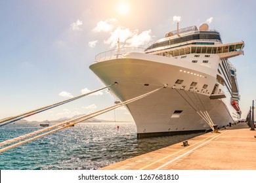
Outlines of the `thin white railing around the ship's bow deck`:
<svg viewBox="0 0 256 183">
<path fill-rule="evenodd" d="M 105 61 L 108 59 L 123 58 L 125 54 L 131 52 L 144 53 L 145 48 L 141 47 L 124 47 L 102 52 L 95 56 L 95 62 Z"/>
</svg>

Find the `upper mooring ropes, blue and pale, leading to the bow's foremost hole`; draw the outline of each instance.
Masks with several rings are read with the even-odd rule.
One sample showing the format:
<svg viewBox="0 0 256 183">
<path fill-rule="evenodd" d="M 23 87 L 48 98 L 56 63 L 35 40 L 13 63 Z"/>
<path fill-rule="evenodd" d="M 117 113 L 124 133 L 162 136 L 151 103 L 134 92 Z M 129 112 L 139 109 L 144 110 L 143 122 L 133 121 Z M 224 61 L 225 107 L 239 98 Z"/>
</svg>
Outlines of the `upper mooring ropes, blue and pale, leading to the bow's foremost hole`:
<svg viewBox="0 0 256 183">
<path fill-rule="evenodd" d="M 117 82 L 115 82 L 114 84 L 117 84 Z M 98 89 L 98 90 L 94 90 L 94 91 L 92 91 L 92 92 L 88 92 L 88 93 L 79 95 L 79 96 L 77 96 L 77 97 L 73 97 L 73 98 L 71 98 L 71 99 L 67 99 L 67 100 L 65 100 L 65 101 L 60 101 L 60 102 L 58 102 L 58 103 L 54 103 L 54 104 L 52 104 L 52 105 L 47 105 L 47 106 L 45 106 L 45 107 L 37 108 L 37 109 L 35 109 L 35 110 L 31 110 L 31 111 L 29 111 L 29 112 L 25 112 L 25 113 L 19 114 L 19 115 L 17 115 L 17 116 L 11 116 L 11 117 L 9 117 L 9 118 L 2 119 L 2 120 L 0 120 L 0 127 L 3 126 L 3 125 L 11 124 L 12 122 L 16 122 L 16 121 L 18 121 L 18 120 L 22 120 L 23 118 L 27 118 L 28 116 L 32 116 L 32 115 L 37 114 L 37 113 L 39 113 L 39 112 L 43 112 L 43 111 L 45 111 L 45 110 L 49 110 L 49 109 L 51 109 L 51 108 L 58 107 L 58 106 L 60 106 L 60 105 L 64 105 L 65 103 L 69 103 L 69 102 L 74 101 L 74 100 L 76 100 L 76 99 L 79 99 L 79 98 L 81 98 L 81 97 L 85 97 L 86 95 L 90 95 L 90 94 L 92 94 L 92 93 L 98 92 L 98 91 L 100 91 L 100 90 L 104 90 L 105 88 L 108 88 L 108 87 L 110 87 L 110 86 L 113 86 L 114 84 L 110 84 L 110 85 L 105 86 L 105 87 L 103 87 L 103 88 L 100 88 L 100 89 Z"/>
</svg>

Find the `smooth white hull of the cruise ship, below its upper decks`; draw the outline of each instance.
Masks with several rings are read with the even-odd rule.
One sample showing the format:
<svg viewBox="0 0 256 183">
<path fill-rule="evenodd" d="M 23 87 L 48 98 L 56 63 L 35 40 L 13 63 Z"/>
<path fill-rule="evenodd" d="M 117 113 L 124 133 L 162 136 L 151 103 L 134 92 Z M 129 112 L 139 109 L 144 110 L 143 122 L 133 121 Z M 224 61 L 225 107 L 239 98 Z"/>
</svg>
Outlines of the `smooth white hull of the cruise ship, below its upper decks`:
<svg viewBox="0 0 256 183">
<path fill-rule="evenodd" d="M 221 92 L 215 93 L 217 99 L 210 99 L 221 63 L 218 54 L 211 54 L 210 67 L 192 63 L 192 56 L 194 54 L 188 54 L 186 59 L 189 61 L 184 61 L 181 58 L 129 53 L 104 58 L 104 61 L 93 63 L 90 69 L 105 85 L 118 82 L 110 91 L 120 101 L 168 84 L 167 88 L 127 105 L 137 125 L 138 137 L 211 129 L 196 110 L 206 110 L 213 124 L 219 127 L 238 121 L 226 86 L 220 84 L 218 91 Z M 177 80 L 183 80 L 182 84 L 175 84 Z M 197 83 L 195 87 L 191 87 L 192 82 Z M 206 89 L 203 88 L 205 84 Z M 221 95 L 224 97 L 218 99 Z"/>
</svg>

